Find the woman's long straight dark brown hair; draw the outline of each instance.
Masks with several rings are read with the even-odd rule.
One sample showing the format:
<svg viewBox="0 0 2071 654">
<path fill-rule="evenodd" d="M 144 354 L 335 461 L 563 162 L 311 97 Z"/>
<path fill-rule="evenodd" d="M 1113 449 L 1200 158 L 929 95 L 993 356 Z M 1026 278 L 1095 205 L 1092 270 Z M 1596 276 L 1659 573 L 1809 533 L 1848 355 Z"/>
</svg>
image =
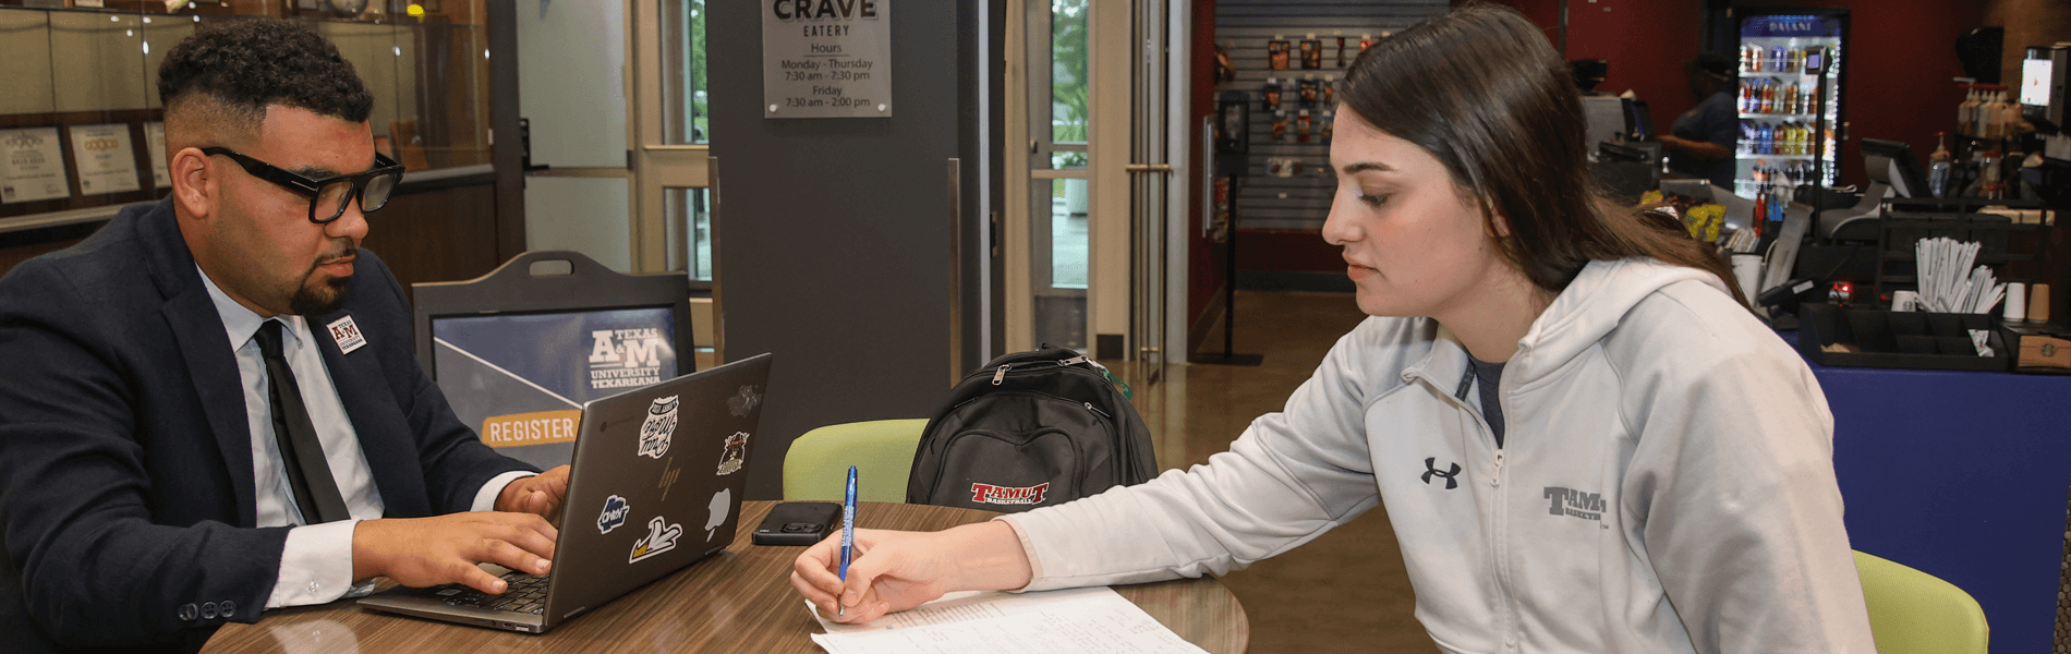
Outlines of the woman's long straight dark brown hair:
<svg viewBox="0 0 2071 654">
<path fill-rule="evenodd" d="M 1680 228 L 1603 197 L 1588 176 L 1582 95 L 1528 19 L 1468 4 L 1381 39 L 1338 91 L 1375 128 L 1417 143 L 1479 199 L 1497 250 L 1547 292 L 1588 261 L 1653 257 L 1709 271 L 1735 300 L 1731 267 Z"/>
</svg>

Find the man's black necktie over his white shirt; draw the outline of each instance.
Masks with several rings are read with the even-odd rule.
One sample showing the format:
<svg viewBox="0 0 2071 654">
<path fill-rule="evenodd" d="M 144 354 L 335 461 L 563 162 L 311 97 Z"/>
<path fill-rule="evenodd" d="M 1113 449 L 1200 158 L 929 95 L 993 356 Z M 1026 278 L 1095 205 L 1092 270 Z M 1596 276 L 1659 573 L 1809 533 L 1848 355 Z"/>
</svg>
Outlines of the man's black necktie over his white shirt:
<svg viewBox="0 0 2071 654">
<path fill-rule="evenodd" d="M 288 486 L 294 488 L 294 505 L 302 509 L 304 524 L 325 524 L 348 519 L 346 499 L 331 478 L 331 464 L 323 459 L 323 443 L 317 441 L 317 426 L 309 422 L 309 408 L 302 406 L 302 387 L 294 383 L 294 370 L 280 356 L 280 321 L 265 321 L 259 333 L 259 356 L 265 358 L 267 397 L 273 404 L 273 441 L 280 443 L 282 468 L 288 470 Z"/>
</svg>

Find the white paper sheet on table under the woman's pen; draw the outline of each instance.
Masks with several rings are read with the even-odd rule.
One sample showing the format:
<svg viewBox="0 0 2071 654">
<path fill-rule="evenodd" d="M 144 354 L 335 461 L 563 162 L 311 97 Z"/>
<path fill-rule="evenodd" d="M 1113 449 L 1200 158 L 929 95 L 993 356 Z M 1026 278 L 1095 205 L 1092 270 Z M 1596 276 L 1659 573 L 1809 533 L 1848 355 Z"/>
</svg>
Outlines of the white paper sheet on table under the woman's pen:
<svg viewBox="0 0 2071 654">
<path fill-rule="evenodd" d="M 955 592 L 868 625 L 833 623 L 812 602 L 806 611 L 826 629 L 812 642 L 828 654 L 1205 654 L 1106 586 Z"/>
</svg>

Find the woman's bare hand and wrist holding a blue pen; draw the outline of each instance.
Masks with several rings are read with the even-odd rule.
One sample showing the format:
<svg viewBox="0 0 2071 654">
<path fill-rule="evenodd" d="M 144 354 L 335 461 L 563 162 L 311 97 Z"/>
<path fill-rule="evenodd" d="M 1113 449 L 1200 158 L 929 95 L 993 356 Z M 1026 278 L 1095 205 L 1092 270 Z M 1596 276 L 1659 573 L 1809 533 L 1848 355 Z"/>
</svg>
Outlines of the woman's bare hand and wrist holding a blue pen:
<svg viewBox="0 0 2071 654">
<path fill-rule="evenodd" d="M 1021 538 L 1004 522 L 944 532 L 855 530 L 847 584 L 839 567 L 841 538 L 830 536 L 797 555 L 791 586 L 820 606 L 822 617 L 835 617 L 845 606 L 845 615 L 835 619 L 841 623 L 868 623 L 951 590 L 1021 588 L 1031 577 Z"/>
</svg>

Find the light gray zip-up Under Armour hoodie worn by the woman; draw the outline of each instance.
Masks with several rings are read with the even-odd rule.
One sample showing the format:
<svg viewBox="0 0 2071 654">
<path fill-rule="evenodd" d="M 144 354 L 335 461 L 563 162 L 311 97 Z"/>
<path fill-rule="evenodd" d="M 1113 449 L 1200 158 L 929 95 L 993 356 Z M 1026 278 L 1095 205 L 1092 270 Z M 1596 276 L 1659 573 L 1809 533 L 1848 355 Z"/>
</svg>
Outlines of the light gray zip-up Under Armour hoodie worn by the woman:
<svg viewBox="0 0 2071 654">
<path fill-rule="evenodd" d="M 1437 323 L 1367 319 L 1207 466 L 1004 517 L 1029 588 L 1226 573 L 1385 501 L 1446 652 L 1874 652 L 1827 399 L 1711 273 L 1584 267 L 1504 368 L 1501 449 L 1464 375 Z"/>
</svg>

